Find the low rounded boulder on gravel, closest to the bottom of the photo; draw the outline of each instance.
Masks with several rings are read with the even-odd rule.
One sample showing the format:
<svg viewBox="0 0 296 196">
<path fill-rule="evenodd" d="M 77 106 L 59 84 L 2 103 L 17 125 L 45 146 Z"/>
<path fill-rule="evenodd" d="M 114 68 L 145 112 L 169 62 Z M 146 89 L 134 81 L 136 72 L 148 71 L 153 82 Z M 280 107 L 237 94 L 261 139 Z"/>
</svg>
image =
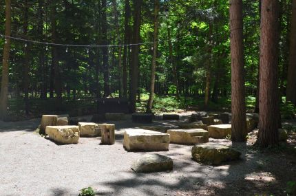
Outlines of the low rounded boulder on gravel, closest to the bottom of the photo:
<svg viewBox="0 0 296 196">
<path fill-rule="evenodd" d="M 132 164 L 131 169 L 136 173 L 153 173 L 160 171 L 172 171 L 173 160 L 164 155 L 144 155 Z"/>
</svg>

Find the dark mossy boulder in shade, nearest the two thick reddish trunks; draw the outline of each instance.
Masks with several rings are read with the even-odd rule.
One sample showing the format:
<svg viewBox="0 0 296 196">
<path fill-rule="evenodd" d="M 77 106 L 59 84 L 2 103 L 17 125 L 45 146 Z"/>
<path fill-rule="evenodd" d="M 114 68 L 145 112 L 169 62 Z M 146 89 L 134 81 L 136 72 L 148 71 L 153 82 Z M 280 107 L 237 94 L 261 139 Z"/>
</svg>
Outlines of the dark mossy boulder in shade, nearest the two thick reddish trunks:
<svg viewBox="0 0 296 196">
<path fill-rule="evenodd" d="M 193 146 L 193 160 L 201 164 L 219 165 L 222 162 L 238 160 L 240 152 L 221 144 L 198 144 Z"/>
</svg>

